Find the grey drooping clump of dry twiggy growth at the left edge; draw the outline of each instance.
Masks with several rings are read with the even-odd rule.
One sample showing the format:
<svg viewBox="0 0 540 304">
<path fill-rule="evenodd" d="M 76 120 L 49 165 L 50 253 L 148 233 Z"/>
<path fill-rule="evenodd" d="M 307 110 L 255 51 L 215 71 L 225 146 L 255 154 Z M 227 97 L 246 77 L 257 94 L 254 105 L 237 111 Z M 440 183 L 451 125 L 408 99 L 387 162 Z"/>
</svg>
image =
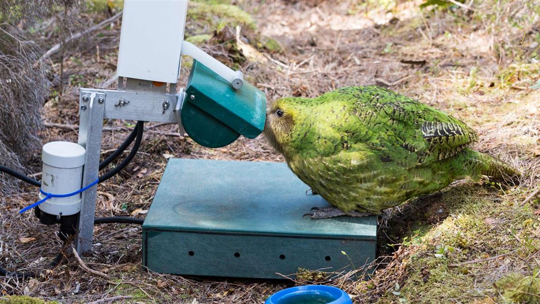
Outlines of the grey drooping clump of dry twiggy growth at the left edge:
<svg viewBox="0 0 540 304">
<path fill-rule="evenodd" d="M 0 19 L 1 20 L 1 19 Z M 42 49 L 27 40 L 24 32 L 0 24 L 0 165 L 23 171 L 29 151 L 41 146 L 41 107 L 49 94 Z M 0 181 L 0 194 L 17 191 L 17 180 L 9 175 Z"/>
</svg>

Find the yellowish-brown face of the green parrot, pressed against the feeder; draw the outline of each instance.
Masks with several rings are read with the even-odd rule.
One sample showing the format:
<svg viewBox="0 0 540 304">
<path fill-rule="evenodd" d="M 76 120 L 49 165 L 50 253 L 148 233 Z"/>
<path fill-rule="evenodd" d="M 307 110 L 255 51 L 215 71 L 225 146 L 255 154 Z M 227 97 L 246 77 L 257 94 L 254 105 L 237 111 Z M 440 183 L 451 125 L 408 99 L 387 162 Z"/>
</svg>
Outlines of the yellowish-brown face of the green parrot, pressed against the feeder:
<svg viewBox="0 0 540 304">
<path fill-rule="evenodd" d="M 296 99 L 298 98 L 279 98 L 266 111 L 265 136 L 281 153 L 290 143 L 295 122 L 299 118 Z"/>
</svg>

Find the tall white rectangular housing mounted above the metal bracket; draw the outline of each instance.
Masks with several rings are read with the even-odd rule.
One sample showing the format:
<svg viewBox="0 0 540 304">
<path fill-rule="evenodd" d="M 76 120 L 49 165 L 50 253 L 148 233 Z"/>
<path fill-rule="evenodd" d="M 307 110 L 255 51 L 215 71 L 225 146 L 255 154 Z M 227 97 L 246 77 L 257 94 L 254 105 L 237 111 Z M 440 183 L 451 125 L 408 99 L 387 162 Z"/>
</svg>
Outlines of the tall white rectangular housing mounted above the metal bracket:
<svg viewBox="0 0 540 304">
<path fill-rule="evenodd" d="M 187 0 L 124 1 L 117 74 L 176 83 Z"/>
</svg>

